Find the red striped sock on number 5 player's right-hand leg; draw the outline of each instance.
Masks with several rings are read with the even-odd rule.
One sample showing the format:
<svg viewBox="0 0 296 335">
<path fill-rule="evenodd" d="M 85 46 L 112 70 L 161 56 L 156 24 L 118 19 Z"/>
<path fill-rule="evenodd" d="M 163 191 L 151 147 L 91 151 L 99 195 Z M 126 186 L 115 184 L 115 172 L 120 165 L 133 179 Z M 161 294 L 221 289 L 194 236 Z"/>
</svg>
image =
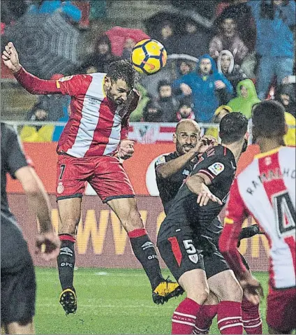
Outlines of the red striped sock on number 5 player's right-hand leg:
<svg viewBox="0 0 296 335">
<path fill-rule="evenodd" d="M 221 301 L 218 304 L 218 327 L 220 334 L 242 334 L 242 304 Z"/>
</svg>

